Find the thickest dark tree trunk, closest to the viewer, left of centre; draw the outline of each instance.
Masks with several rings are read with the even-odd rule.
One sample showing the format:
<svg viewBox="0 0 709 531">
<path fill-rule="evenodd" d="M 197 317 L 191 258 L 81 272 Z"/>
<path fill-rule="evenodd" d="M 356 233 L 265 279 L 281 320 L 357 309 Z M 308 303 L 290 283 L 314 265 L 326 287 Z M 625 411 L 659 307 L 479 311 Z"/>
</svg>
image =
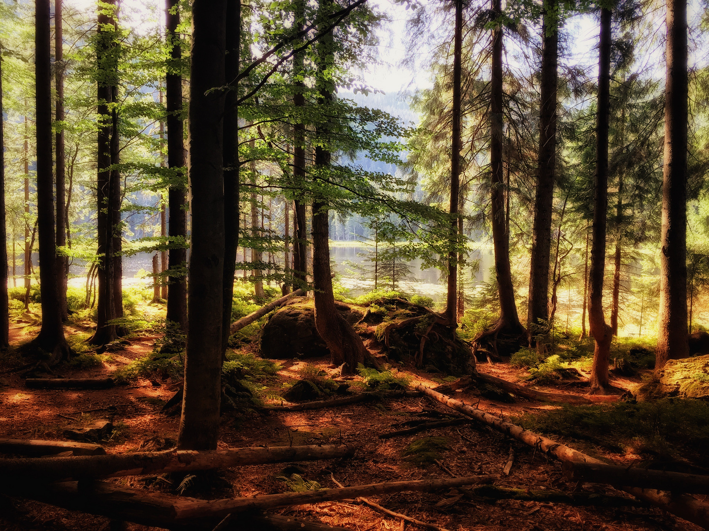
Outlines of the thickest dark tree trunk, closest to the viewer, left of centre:
<svg viewBox="0 0 709 531">
<path fill-rule="evenodd" d="M 215 450 L 219 435 L 224 276 L 223 127 L 227 0 L 192 4 L 189 158 L 192 249 L 181 450 Z M 218 89 L 218 90 L 214 90 Z"/>
</svg>

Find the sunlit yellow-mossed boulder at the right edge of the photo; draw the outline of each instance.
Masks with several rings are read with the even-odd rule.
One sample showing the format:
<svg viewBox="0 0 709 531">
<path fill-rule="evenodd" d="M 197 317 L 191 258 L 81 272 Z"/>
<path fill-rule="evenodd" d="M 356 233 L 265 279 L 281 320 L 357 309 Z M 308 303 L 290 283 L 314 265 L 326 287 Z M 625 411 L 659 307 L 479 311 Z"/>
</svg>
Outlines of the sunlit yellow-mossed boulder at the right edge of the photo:
<svg viewBox="0 0 709 531">
<path fill-rule="evenodd" d="M 709 399 L 709 355 L 668 360 L 665 366 L 634 392 L 640 400 L 679 398 Z"/>
</svg>

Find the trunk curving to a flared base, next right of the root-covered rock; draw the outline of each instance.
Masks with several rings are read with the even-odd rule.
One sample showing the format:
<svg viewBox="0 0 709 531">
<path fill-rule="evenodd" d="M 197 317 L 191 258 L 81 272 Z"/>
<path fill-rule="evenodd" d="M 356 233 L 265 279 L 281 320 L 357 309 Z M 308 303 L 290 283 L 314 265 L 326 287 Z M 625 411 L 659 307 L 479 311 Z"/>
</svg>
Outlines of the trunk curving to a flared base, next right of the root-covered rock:
<svg viewBox="0 0 709 531">
<path fill-rule="evenodd" d="M 493 11 L 497 17 L 502 14 L 501 0 L 493 0 Z M 490 84 L 490 166 L 491 166 L 491 223 L 495 249 L 495 273 L 500 297 L 500 318 L 496 332 L 523 334 L 515 303 L 515 288 L 510 268 L 510 235 L 506 227 L 505 193 L 503 173 L 503 110 L 502 110 L 502 38 L 503 26 L 500 22 L 492 35 L 492 80 Z"/>
</svg>

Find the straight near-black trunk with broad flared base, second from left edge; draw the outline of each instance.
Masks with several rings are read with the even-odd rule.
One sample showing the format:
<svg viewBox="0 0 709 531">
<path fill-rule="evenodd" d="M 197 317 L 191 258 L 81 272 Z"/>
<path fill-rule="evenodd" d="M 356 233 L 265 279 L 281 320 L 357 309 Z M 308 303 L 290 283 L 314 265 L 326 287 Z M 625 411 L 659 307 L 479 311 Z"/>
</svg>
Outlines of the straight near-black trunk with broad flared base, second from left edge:
<svg viewBox="0 0 709 531">
<path fill-rule="evenodd" d="M 42 287 L 42 328 L 27 348 L 51 353 L 50 362 L 69 358 L 64 338 L 57 286 L 57 248 L 54 232 L 52 176 L 52 74 L 50 0 L 35 2 L 35 94 L 37 127 L 37 225 Z"/>
</svg>

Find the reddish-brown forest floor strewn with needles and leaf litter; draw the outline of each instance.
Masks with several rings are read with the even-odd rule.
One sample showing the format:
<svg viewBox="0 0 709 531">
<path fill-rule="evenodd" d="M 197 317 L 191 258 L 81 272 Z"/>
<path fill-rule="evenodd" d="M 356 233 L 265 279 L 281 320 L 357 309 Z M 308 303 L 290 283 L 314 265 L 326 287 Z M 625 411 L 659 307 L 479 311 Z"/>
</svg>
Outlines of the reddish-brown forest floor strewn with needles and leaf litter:
<svg viewBox="0 0 709 531">
<path fill-rule="evenodd" d="M 23 343 L 34 333 L 33 328 L 13 325 L 11 339 L 14 345 Z M 70 326 L 67 334 L 84 334 L 81 326 Z M 152 351 L 155 336 L 135 336 L 130 345 L 93 367 L 80 368 L 71 365 L 57 367 L 63 377 L 109 377 L 128 363 L 144 357 Z M 247 344 L 245 350 L 255 350 L 257 343 Z M 21 372 L 16 368 L 23 360 L 6 355 L 0 357 L 0 438 L 38 438 L 63 440 L 62 433 L 70 426 L 85 426 L 90 421 L 110 418 L 114 424 L 110 440 L 102 442 L 106 451 L 134 452 L 139 448 L 157 450 L 170 447 L 177 440 L 179 416 L 161 412 L 165 402 L 174 395 L 177 382 L 169 377 L 138 377 L 133 382 L 103 390 L 42 390 L 26 389 Z M 274 399 L 284 388 L 296 381 L 303 373 L 303 366 L 311 364 L 331 375 L 335 382 L 342 381 L 329 368 L 325 358 L 295 361 L 279 361 L 275 375 L 263 379 L 262 397 L 266 405 L 275 404 Z M 487 372 L 512 382 L 520 382 L 522 369 L 506 364 L 479 365 Z M 322 374 L 322 373 L 321 373 Z M 400 370 L 411 384 L 421 383 L 435 387 L 440 384 L 440 375 L 416 370 Z M 357 382 L 360 377 L 348 377 L 347 382 Z M 640 377 L 613 378 L 618 389 L 627 389 L 640 382 Z M 582 387 L 556 385 L 539 387 L 561 393 L 584 392 Z M 505 419 L 519 418 L 526 414 L 540 414 L 558 406 L 515 401 L 513 404 L 485 399 L 473 388 L 453 393 L 454 397 L 467 404 L 476 404 Z M 594 399 L 593 397 L 591 397 Z M 613 397 L 598 397 L 594 400 L 608 401 Z M 390 399 L 381 403 L 352 404 L 331 409 L 313 411 L 272 411 L 250 409 L 245 413 L 227 413 L 223 416 L 219 447 L 277 446 L 347 442 L 357 447 L 350 459 L 301 462 L 296 467 L 284 464 L 260 465 L 225 469 L 221 474 L 225 482 L 211 492 L 202 492 L 207 498 L 255 496 L 289 490 L 289 484 L 276 479 L 297 472 L 306 481 L 316 481 L 323 488 L 335 486 L 330 474 L 337 481 L 349 485 L 370 484 L 391 480 L 445 478 L 449 475 L 440 464 L 457 476 L 493 474 L 498 477 L 497 486 L 545 491 L 549 489 L 571 493 L 599 493 L 627 496 L 620 491 L 598 484 L 577 486 L 562 476 L 561 465 L 539 455 L 534 449 L 510 440 L 484 426 L 465 423 L 428 430 L 415 435 L 379 439 L 378 435 L 399 429 L 401 423 L 415 418 L 440 419 L 452 414 L 452 410 L 425 397 Z M 430 462 L 416 464 L 406 457 L 406 448 L 412 442 L 435 437 L 437 447 L 432 455 L 424 455 Z M 557 437 L 557 440 L 563 438 Z M 564 441 L 592 455 L 606 457 L 617 463 L 630 463 L 637 459 L 632 453 L 610 453 L 601 447 L 579 447 L 574 441 Z M 514 455 L 510 474 L 503 474 L 510 452 Z M 437 457 L 440 464 L 430 459 Z M 415 456 L 414 456 L 415 457 Z M 291 476 L 291 479 L 293 477 Z M 140 477 L 114 479 L 117 484 L 141 489 L 174 492 L 169 476 L 150 480 Z M 193 495 L 189 491 L 185 494 Z M 674 515 L 647 507 L 604 508 L 598 506 L 570 506 L 537 501 L 503 500 L 496 503 L 469 501 L 457 496 L 459 491 L 440 493 L 397 493 L 376 496 L 381 506 L 398 513 L 445 527 L 452 531 L 531 531 L 531 530 L 698 530 Z M 196 496 L 196 495 L 195 495 Z M 0 506 L 0 530 L 108 530 L 109 521 L 99 516 L 85 515 L 55 508 L 35 501 L 20 498 L 12 500 L 16 513 L 2 510 Z M 296 506 L 279 512 L 306 520 L 320 521 L 329 525 L 347 527 L 357 531 L 403 530 L 403 521 L 376 512 L 357 501 L 328 502 L 317 505 Z M 406 527 L 419 529 L 418 525 L 406 523 Z M 128 524 L 129 530 L 148 530 L 150 527 Z M 423 528 L 421 528 L 423 529 Z"/>
</svg>

